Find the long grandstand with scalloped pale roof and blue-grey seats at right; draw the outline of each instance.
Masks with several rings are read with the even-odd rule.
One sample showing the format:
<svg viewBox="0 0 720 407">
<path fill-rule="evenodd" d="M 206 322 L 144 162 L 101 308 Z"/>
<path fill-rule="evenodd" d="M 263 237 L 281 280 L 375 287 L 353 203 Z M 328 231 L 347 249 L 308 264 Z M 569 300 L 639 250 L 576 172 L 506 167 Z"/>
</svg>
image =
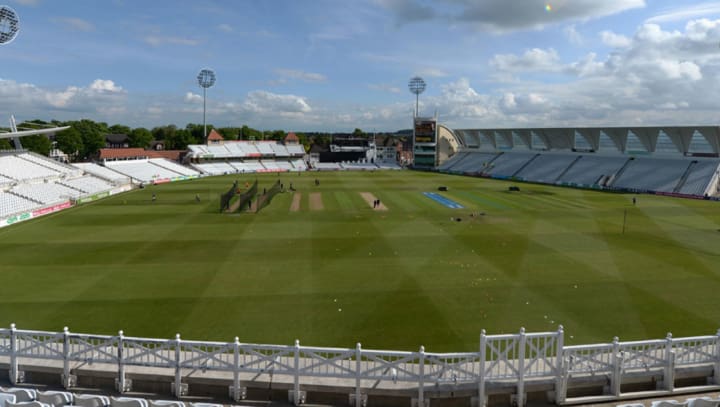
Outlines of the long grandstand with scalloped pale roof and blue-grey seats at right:
<svg viewBox="0 0 720 407">
<path fill-rule="evenodd" d="M 718 195 L 720 127 L 456 129 L 442 172 L 687 197 Z"/>
</svg>

